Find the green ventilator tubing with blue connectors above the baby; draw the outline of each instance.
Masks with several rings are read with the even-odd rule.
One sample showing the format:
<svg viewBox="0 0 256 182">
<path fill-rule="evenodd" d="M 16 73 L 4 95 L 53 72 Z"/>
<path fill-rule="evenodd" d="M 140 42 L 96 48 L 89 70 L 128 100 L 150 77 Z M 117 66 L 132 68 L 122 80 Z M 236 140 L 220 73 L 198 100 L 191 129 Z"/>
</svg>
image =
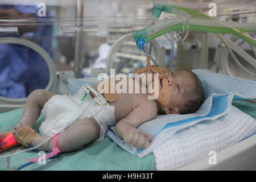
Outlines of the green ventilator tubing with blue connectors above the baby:
<svg viewBox="0 0 256 182">
<path fill-rule="evenodd" d="M 162 7 L 162 5 L 160 6 Z M 183 23 L 185 18 L 188 23 L 186 31 L 211 32 L 215 34 L 233 34 L 256 47 L 256 39 L 243 33 L 255 31 L 255 23 L 223 22 L 180 6 L 169 5 L 163 6 L 161 9 L 162 11 L 156 10 L 159 10 L 158 6 L 156 6 L 152 11 L 152 15 L 156 18 L 160 16 L 159 13 L 162 13 L 162 11 L 176 14 L 178 16 L 177 18 L 163 20 L 162 22 L 152 24 L 147 28 L 143 28 L 141 31 L 134 34 L 134 39 L 136 42 L 139 38 L 142 38 L 146 43 L 157 38 L 158 36 L 166 34 L 167 32 L 183 31 Z"/>
</svg>

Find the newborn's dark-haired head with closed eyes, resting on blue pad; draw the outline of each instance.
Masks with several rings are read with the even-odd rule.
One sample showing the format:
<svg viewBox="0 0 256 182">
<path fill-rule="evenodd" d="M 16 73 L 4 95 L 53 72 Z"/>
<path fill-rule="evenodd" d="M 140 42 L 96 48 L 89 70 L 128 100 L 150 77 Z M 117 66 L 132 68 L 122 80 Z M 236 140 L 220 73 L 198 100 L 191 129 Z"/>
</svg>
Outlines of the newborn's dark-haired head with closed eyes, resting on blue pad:
<svg viewBox="0 0 256 182">
<path fill-rule="evenodd" d="M 195 113 L 204 102 L 204 89 L 197 75 L 188 69 L 178 69 L 167 76 L 170 90 L 166 114 Z M 160 81 L 160 92 L 163 94 Z"/>
</svg>

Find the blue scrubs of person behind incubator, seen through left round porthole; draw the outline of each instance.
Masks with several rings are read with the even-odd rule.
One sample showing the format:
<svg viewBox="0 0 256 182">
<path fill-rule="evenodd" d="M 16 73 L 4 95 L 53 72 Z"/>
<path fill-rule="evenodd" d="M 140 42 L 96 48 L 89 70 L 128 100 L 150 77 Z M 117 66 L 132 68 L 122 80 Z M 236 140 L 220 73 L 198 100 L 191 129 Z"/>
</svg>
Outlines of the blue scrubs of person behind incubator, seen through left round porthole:
<svg viewBox="0 0 256 182">
<path fill-rule="evenodd" d="M 35 16 L 37 16 L 40 9 L 36 6 L 10 5 L 0 5 L 0 8 L 14 8 L 19 13 L 28 13 Z M 47 9 L 46 12 L 46 18 L 39 18 L 36 30 L 27 32 L 25 35 L 52 57 L 52 24 L 42 24 L 40 22 L 41 19 L 49 18 Z M 1 35 L 1 37 L 6 36 L 6 34 Z M 48 82 L 49 70 L 47 64 L 37 52 L 18 44 L 0 45 L 0 96 L 9 98 L 27 97 L 35 89 L 46 88 Z"/>
</svg>

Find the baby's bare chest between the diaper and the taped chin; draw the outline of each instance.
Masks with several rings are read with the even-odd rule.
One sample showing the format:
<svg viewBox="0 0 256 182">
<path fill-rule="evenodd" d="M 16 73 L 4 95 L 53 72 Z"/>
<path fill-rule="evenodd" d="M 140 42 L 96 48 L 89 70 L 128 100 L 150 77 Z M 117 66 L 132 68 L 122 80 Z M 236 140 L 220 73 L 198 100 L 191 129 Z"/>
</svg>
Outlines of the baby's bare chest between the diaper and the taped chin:
<svg viewBox="0 0 256 182">
<path fill-rule="evenodd" d="M 148 100 L 149 94 L 147 90 L 144 89 L 139 82 L 131 78 L 123 78 L 123 79 L 127 79 L 126 93 L 117 93 L 118 100 L 115 102 L 108 102 L 109 105 L 115 107 L 114 114 L 115 114 L 116 122 L 125 118 L 138 105 L 144 105 L 146 109 L 147 104 L 149 105 L 150 102 L 151 103 L 156 102 L 155 100 Z M 128 80 L 130 80 L 130 82 Z M 115 89 L 120 88 L 120 86 L 117 85 L 118 82 L 120 81 L 121 80 L 115 81 Z M 133 85 L 131 85 L 131 83 L 133 83 Z M 97 85 L 93 86 L 93 88 L 97 90 Z M 130 88 L 130 91 L 129 91 L 129 88 Z M 121 90 L 122 90 L 122 86 L 121 86 Z"/>
</svg>

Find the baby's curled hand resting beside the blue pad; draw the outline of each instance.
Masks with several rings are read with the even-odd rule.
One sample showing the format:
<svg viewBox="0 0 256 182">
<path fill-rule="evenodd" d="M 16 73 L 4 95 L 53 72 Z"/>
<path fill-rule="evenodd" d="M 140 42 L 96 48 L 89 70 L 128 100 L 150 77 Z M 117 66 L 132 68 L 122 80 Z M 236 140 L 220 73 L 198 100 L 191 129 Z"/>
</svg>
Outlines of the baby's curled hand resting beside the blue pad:
<svg viewBox="0 0 256 182">
<path fill-rule="evenodd" d="M 123 140 L 131 147 L 146 148 L 150 145 L 152 136 L 133 127 L 127 127 L 123 132 Z"/>
</svg>

